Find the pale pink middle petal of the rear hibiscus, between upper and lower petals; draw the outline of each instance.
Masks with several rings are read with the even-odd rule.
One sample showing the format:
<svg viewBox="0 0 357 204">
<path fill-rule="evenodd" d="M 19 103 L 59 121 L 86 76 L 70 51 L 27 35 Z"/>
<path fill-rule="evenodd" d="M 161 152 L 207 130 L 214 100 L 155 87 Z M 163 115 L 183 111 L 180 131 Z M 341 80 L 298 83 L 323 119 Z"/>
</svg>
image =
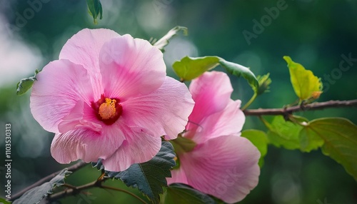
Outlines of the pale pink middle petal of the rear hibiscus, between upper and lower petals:
<svg viewBox="0 0 357 204">
<path fill-rule="evenodd" d="M 238 134 L 246 120 L 243 111 L 239 109 L 240 106 L 241 101 L 230 100 L 222 111 L 203 118 L 192 140 L 196 143 L 204 143 L 210 138 Z M 189 131 L 187 130 L 188 134 Z"/>
</svg>

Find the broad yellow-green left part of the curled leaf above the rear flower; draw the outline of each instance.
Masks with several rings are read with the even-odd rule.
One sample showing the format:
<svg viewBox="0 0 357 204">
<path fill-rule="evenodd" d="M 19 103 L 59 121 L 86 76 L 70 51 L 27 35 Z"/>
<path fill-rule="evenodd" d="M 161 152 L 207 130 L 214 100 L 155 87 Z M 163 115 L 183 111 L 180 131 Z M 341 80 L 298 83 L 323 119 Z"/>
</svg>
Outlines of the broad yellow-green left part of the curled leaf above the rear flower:
<svg viewBox="0 0 357 204">
<path fill-rule="evenodd" d="M 174 68 L 177 76 L 181 78 L 181 81 L 190 81 L 218 65 L 219 58 L 216 56 L 196 58 L 185 56 L 181 58 L 181 61 L 175 61 L 172 68 Z"/>
</svg>

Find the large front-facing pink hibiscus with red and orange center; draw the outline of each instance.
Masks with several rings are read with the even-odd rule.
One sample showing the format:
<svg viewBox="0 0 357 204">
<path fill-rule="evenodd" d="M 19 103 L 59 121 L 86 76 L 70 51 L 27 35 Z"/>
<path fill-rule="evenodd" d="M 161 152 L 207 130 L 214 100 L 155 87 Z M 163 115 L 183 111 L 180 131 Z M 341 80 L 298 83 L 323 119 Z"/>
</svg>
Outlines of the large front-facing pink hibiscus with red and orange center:
<svg viewBox="0 0 357 204">
<path fill-rule="evenodd" d="M 36 78 L 31 112 L 55 133 L 59 163 L 101 158 L 106 170 L 121 171 L 146 162 L 193 108 L 188 88 L 166 76 L 159 49 L 108 29 L 79 31 Z"/>
</svg>

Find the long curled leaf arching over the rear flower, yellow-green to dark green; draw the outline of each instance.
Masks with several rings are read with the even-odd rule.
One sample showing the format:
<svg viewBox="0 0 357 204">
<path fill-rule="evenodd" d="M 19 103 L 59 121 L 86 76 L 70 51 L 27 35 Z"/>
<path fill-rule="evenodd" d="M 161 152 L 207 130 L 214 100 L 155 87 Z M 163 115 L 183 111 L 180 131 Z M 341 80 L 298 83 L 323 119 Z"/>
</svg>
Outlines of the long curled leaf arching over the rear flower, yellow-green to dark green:
<svg viewBox="0 0 357 204">
<path fill-rule="evenodd" d="M 241 66 L 238 63 L 226 61 L 218 56 L 203 56 L 197 58 L 185 56 L 181 59 L 181 61 L 174 62 L 173 68 L 177 76 L 180 77 L 182 81 L 189 81 L 218 65 L 226 68 L 228 73 L 231 73 L 234 76 L 243 76 L 243 78 L 246 78 L 253 90 L 258 90 L 258 80 L 249 68 Z"/>
</svg>

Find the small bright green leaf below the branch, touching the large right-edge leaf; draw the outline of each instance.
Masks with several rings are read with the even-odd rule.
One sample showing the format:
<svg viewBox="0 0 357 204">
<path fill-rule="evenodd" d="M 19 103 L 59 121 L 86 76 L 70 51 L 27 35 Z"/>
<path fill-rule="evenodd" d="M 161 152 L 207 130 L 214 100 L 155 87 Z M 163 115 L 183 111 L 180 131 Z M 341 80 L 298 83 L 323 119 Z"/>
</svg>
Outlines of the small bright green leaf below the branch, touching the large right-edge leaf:
<svg viewBox="0 0 357 204">
<path fill-rule="evenodd" d="M 269 128 L 268 140 L 274 146 L 294 150 L 300 149 L 299 133 L 302 126 L 291 121 L 285 121 L 283 116 L 275 116 L 271 124 L 266 124 Z"/>
</svg>

